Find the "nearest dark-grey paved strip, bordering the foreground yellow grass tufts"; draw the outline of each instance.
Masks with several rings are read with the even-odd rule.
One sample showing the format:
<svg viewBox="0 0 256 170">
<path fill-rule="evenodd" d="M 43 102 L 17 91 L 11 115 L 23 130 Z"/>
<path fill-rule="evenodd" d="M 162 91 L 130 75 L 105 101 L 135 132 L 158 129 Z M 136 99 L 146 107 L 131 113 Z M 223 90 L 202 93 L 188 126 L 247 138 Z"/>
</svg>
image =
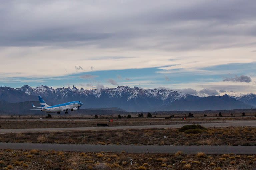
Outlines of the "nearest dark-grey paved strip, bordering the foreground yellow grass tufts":
<svg viewBox="0 0 256 170">
<path fill-rule="evenodd" d="M 79 152 L 120 153 L 175 153 L 181 150 L 187 154 L 256 154 L 256 146 L 158 146 L 158 145 L 91 145 L 91 144 L 50 144 L 50 143 L 0 143 L 0 149 L 38 149 Z"/>
</svg>

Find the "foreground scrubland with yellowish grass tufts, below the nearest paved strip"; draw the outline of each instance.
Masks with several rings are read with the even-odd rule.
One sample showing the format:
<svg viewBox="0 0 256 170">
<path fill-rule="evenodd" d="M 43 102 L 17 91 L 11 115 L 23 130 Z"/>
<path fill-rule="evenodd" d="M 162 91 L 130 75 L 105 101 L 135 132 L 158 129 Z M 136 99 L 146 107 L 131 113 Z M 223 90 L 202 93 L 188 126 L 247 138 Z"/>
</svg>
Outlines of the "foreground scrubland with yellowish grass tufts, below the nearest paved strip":
<svg viewBox="0 0 256 170">
<path fill-rule="evenodd" d="M 2 169 L 20 170 L 252 170 L 256 155 L 132 154 L 0 150 Z"/>
</svg>

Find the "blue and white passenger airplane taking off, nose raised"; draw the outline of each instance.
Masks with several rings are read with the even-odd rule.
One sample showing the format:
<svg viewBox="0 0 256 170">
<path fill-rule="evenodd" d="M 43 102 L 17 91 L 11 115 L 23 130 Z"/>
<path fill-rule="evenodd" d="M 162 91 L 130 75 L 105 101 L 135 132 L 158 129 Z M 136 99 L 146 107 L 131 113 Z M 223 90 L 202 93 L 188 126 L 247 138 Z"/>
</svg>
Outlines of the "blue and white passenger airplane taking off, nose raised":
<svg viewBox="0 0 256 170">
<path fill-rule="evenodd" d="M 36 107 L 33 105 L 34 108 L 40 108 L 40 109 L 30 109 L 30 110 L 41 110 L 42 112 L 47 112 L 47 113 L 55 113 L 57 112 L 60 114 L 61 111 L 66 111 L 65 114 L 68 113 L 68 110 L 75 111 L 79 109 L 83 103 L 80 101 L 73 101 L 73 102 L 68 102 L 68 103 L 63 103 L 59 105 L 54 105 L 54 106 L 49 106 L 45 103 L 45 101 L 42 99 L 41 96 L 38 96 L 40 105 L 41 107 Z"/>
</svg>

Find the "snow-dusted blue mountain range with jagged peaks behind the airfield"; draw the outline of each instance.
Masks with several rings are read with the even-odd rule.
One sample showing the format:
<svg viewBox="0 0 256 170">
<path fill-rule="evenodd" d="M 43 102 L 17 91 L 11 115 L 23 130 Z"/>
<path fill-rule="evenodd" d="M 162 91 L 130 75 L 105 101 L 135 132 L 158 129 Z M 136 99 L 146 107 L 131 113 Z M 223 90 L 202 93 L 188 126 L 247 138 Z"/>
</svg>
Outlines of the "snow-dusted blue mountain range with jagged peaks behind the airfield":
<svg viewBox="0 0 256 170">
<path fill-rule="evenodd" d="M 24 85 L 17 89 L 0 87 L 0 101 L 8 103 L 37 101 L 38 95 L 42 96 L 49 105 L 79 100 L 84 103 L 82 109 L 117 107 L 129 112 L 232 110 L 256 107 L 254 94 L 240 97 L 228 95 L 199 97 L 173 90 L 128 86 L 93 90 L 78 89 L 75 86 L 57 89 L 44 85 L 36 88 Z M 3 106 L 0 106 L 2 111 Z"/>
</svg>

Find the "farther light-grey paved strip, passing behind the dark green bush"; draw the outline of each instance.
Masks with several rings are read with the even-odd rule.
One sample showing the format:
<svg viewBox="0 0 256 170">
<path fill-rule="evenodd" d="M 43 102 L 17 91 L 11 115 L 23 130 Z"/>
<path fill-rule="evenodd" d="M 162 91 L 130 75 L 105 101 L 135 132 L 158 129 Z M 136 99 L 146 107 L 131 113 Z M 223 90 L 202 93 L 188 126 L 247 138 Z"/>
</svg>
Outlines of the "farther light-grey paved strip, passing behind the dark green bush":
<svg viewBox="0 0 256 170">
<path fill-rule="evenodd" d="M 190 125 L 190 124 L 188 124 Z M 229 121 L 220 123 L 200 124 L 204 127 L 241 127 L 256 126 L 256 121 Z M 142 126 L 113 126 L 113 127 L 81 127 L 81 128 L 27 128 L 27 129 L 0 129 L 0 133 L 9 132 L 46 132 L 46 131 L 78 131 L 78 130 L 116 130 L 116 129 L 147 129 L 147 128 L 181 128 L 184 124 L 177 125 L 142 125 Z"/>
</svg>

